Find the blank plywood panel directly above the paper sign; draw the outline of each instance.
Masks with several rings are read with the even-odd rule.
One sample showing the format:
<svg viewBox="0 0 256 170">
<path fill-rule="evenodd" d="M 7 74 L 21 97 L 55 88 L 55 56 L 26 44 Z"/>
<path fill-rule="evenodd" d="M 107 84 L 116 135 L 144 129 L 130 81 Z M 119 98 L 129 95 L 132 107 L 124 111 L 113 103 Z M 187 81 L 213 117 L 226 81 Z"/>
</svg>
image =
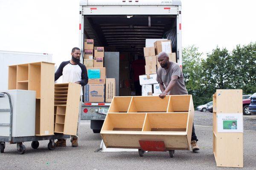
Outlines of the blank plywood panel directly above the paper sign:
<svg viewBox="0 0 256 170">
<path fill-rule="evenodd" d="M 217 113 L 242 113 L 243 105 L 241 89 L 217 89 L 216 112 Z"/>
</svg>

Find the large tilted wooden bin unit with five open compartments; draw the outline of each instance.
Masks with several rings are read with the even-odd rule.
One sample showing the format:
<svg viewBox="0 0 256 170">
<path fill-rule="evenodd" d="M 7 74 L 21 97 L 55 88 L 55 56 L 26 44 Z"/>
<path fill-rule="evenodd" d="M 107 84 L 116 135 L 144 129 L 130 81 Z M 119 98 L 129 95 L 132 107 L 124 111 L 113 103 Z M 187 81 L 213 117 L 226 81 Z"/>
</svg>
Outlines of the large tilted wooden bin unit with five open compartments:
<svg viewBox="0 0 256 170">
<path fill-rule="evenodd" d="M 114 97 L 100 134 L 107 148 L 141 149 L 139 141 L 164 141 L 166 150 L 190 150 L 193 117 L 191 95 Z"/>
</svg>

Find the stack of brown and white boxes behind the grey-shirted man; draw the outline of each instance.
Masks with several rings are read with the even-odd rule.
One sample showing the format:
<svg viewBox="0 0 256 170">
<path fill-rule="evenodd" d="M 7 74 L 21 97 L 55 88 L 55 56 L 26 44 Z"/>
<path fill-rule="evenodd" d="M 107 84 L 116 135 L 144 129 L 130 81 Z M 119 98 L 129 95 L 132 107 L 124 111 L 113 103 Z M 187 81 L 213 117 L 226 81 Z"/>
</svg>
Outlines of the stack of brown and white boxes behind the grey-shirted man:
<svg viewBox="0 0 256 170">
<path fill-rule="evenodd" d="M 140 85 L 142 86 L 142 95 L 159 95 L 161 93 L 159 84 L 156 80 L 157 69 L 160 67 L 157 61 L 158 54 L 166 52 L 169 55 L 169 61 L 176 63 L 176 54 L 172 53 L 172 43 L 170 40 L 157 40 L 151 46 L 144 48 L 145 73 L 140 75 Z"/>
</svg>

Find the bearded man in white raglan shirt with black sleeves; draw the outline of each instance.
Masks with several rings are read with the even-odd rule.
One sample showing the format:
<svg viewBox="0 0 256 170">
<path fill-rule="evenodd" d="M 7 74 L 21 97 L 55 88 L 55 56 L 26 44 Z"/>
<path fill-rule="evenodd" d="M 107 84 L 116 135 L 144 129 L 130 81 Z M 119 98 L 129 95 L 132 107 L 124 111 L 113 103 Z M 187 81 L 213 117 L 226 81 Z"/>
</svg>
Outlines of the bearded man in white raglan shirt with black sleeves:
<svg viewBox="0 0 256 170">
<path fill-rule="evenodd" d="M 55 81 L 58 80 L 58 78 L 63 75 L 63 83 L 77 83 L 81 84 L 81 86 L 85 86 L 88 83 L 88 76 L 87 76 L 87 69 L 84 66 L 84 64 L 80 63 L 80 56 L 81 56 L 81 50 L 77 47 L 74 47 L 71 52 L 72 59 L 70 61 L 64 61 L 59 66 L 58 70 L 55 72 Z M 81 90 L 82 95 L 82 90 Z M 81 108 L 81 102 L 80 106 Z M 80 109 L 79 109 L 80 113 Z M 78 116 L 78 127 L 77 127 L 77 133 L 76 136 L 71 135 L 71 143 L 72 147 L 78 147 L 78 128 L 79 128 L 79 122 L 80 122 L 80 115 Z M 65 147 L 66 146 L 66 140 L 65 139 L 58 139 L 58 141 L 55 142 L 56 147 Z"/>
</svg>

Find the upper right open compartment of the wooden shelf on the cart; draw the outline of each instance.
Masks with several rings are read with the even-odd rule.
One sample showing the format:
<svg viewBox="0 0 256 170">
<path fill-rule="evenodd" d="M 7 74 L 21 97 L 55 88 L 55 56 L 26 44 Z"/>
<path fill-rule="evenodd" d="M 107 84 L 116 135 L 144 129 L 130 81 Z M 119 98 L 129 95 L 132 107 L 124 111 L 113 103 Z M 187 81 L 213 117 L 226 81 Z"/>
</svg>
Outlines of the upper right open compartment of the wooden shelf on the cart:
<svg viewBox="0 0 256 170">
<path fill-rule="evenodd" d="M 41 97 L 41 64 L 29 64 L 29 90 L 35 90 L 36 98 Z"/>
</svg>

